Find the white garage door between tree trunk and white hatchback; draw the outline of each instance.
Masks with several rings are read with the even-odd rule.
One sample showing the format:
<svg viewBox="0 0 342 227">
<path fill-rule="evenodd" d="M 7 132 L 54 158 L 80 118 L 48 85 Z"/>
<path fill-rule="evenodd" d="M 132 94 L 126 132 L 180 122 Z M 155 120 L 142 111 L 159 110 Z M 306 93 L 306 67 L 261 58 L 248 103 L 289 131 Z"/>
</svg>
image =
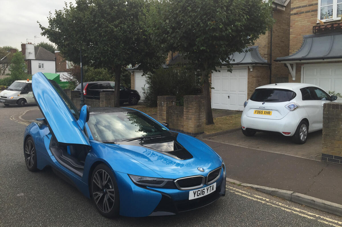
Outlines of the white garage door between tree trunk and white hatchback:
<svg viewBox="0 0 342 227">
<path fill-rule="evenodd" d="M 212 74 L 212 108 L 243 110 L 247 100 L 247 69 L 220 71 Z"/>
</svg>

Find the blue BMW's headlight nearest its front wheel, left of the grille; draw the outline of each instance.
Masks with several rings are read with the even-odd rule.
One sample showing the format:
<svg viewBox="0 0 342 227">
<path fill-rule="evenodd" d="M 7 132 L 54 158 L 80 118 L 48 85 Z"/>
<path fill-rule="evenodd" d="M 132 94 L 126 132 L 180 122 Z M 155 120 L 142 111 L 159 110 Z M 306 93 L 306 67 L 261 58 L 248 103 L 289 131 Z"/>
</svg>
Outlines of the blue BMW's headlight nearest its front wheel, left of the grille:
<svg viewBox="0 0 342 227">
<path fill-rule="evenodd" d="M 128 175 L 131 180 L 139 186 L 149 186 L 156 188 L 176 188 L 173 179 L 157 178 L 157 177 L 143 177 L 136 175 Z"/>
</svg>

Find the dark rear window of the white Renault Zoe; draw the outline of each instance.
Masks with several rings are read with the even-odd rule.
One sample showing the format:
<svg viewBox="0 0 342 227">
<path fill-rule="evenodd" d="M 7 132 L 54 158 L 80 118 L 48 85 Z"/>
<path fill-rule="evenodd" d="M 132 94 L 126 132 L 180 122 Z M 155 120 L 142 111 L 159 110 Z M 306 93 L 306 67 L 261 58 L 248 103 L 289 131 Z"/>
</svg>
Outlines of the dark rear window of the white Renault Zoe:
<svg viewBox="0 0 342 227">
<path fill-rule="evenodd" d="M 294 91 L 275 88 L 255 89 L 250 100 L 265 103 L 281 103 L 292 100 L 296 96 Z"/>
</svg>

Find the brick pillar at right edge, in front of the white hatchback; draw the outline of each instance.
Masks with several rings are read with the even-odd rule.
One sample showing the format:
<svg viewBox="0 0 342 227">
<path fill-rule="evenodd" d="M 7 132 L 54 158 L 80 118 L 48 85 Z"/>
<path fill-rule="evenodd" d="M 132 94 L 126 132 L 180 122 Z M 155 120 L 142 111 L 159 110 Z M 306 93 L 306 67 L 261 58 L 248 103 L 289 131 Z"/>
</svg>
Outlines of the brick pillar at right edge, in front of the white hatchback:
<svg viewBox="0 0 342 227">
<path fill-rule="evenodd" d="M 322 160 L 342 164 L 342 103 L 323 106 Z"/>
</svg>

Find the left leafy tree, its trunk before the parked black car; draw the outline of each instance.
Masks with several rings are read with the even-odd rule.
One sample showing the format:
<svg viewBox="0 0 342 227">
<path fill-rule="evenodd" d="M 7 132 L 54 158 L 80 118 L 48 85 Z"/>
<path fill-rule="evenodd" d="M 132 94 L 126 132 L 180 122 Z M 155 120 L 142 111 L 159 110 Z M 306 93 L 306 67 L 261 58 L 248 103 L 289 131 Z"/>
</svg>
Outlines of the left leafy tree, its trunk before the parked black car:
<svg viewBox="0 0 342 227">
<path fill-rule="evenodd" d="M 115 106 L 119 106 L 121 70 L 140 64 L 144 71 L 158 68 L 166 56 L 146 34 L 143 0 L 77 0 L 63 10 L 50 12 L 49 26 L 39 22 L 42 35 L 58 46 L 69 61 L 115 74 Z"/>
</svg>

